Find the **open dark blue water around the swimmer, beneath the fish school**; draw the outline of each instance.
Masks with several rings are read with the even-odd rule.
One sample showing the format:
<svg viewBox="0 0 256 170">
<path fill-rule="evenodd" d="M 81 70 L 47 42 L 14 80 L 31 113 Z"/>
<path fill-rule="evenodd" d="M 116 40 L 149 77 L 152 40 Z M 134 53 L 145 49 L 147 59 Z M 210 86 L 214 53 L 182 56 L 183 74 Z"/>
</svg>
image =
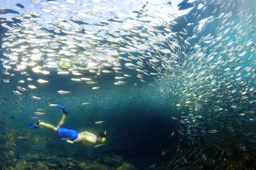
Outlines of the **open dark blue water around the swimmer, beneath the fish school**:
<svg viewBox="0 0 256 170">
<path fill-rule="evenodd" d="M 31 75 L 36 78 L 37 75 Z M 172 150 L 175 138 L 169 138 L 170 132 L 174 131 L 177 121 L 171 117 L 177 114 L 169 107 L 168 97 L 164 98 L 155 88 L 146 85 L 134 87 L 133 84 L 126 87 L 110 89 L 108 85 L 100 91 L 87 90 L 82 83 L 70 84 L 70 76 L 67 79 L 50 75 L 44 76 L 49 84 L 36 84 L 39 89 L 22 92 L 23 100 L 17 100 L 11 90 L 17 83 L 1 83 L 1 96 L 9 99 L 3 101 L 6 105 L 1 106 L 1 121 L 5 124 L 6 134 L 14 136 L 11 140 L 3 134 L 4 143 L 15 144 L 19 149 L 8 146 L 15 151 L 15 157 L 19 158 L 26 154 L 39 154 L 40 157 L 56 155 L 61 158 L 75 158 L 80 161 L 95 160 L 99 155 L 119 155 L 124 160 L 133 160 L 138 167 L 148 166 L 151 161 L 161 160 L 161 152 Z M 22 79 L 21 76 L 17 76 Z M 17 80 L 18 80 L 17 79 Z M 17 82 L 16 79 L 11 79 Z M 61 82 L 61 83 L 59 83 Z M 27 85 L 27 84 L 25 84 Z M 23 85 L 22 85 L 23 86 Z M 25 87 L 25 86 L 23 86 Z M 129 88 L 128 88 L 129 87 Z M 72 89 L 71 94 L 61 95 L 56 91 Z M 32 100 L 31 96 L 39 96 L 41 100 Z M 17 102 L 14 104 L 12 102 Z M 82 105 L 91 102 L 89 105 Z M 107 131 L 107 142 L 104 147 L 90 148 L 80 145 L 71 145 L 47 129 L 30 129 L 27 124 L 36 123 L 39 117 L 45 123 L 57 125 L 62 117 L 62 110 L 58 107 L 49 107 L 50 103 L 58 103 L 68 111 L 68 117 L 62 127 L 94 134 Z M 36 116 L 37 108 L 44 108 L 45 115 Z M 19 109 L 21 112 L 16 112 Z M 9 118 L 9 116 L 15 119 Z M 104 124 L 95 124 L 96 121 L 106 121 Z M 18 139 L 18 136 L 26 136 L 30 144 Z M 6 153 L 4 153 L 6 154 Z M 27 157 L 27 156 L 26 156 Z M 144 160 L 144 164 L 141 161 Z"/>
</svg>

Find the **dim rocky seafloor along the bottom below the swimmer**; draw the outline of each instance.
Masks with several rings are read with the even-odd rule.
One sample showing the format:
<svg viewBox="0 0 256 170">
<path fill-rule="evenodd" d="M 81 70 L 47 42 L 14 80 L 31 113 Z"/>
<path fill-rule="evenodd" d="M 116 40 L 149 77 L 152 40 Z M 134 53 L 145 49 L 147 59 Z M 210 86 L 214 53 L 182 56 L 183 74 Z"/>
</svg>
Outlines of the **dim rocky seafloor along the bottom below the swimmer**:
<svg viewBox="0 0 256 170">
<path fill-rule="evenodd" d="M 47 170 L 47 169 L 92 169 L 92 170 L 135 170 L 141 168 L 135 168 L 132 163 L 124 161 L 119 155 L 103 154 L 99 155 L 95 160 L 78 161 L 73 158 L 61 158 L 57 156 L 42 157 L 40 154 L 27 154 L 24 157 L 11 158 L 5 161 L 5 165 L 2 165 L 1 169 L 35 169 L 35 170 Z"/>
</svg>

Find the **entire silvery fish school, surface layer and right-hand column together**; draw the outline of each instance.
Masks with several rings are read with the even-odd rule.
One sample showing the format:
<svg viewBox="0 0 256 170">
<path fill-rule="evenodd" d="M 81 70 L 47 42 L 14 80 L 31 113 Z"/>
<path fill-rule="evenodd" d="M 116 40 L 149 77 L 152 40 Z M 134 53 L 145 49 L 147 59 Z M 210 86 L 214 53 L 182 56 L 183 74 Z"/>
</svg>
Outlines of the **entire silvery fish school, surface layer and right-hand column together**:
<svg viewBox="0 0 256 170">
<path fill-rule="evenodd" d="M 175 147 L 159 151 L 169 161 L 152 163 L 149 169 L 255 168 L 252 0 L 183 1 L 180 9 L 190 10 L 181 16 L 164 11 L 173 7 L 171 2 L 127 1 L 129 10 L 105 1 L 31 2 L 40 10 L 17 5 L 23 13 L 12 19 L 15 24 L 7 24 L 2 39 L 2 81 L 27 76 L 15 80 L 21 84 L 11 90 L 17 100 L 23 100 L 23 91 L 39 89 L 35 82 L 51 83 L 46 76 L 52 72 L 72 75 L 70 83 L 83 82 L 95 92 L 103 89 L 104 84 L 98 83 L 101 78 L 106 77 L 114 88 L 128 86 L 129 81 L 141 87 L 153 77 L 150 86 L 170 96 L 172 111 L 177 112 L 172 119 L 180 126 L 169 134 L 178 138 Z M 242 9 L 252 4 L 253 9 Z M 31 74 L 40 78 L 32 79 Z M 27 87 L 21 87 L 23 83 Z M 70 95 L 71 91 L 56 93 Z M 30 97 L 41 100 L 41 96 Z"/>
</svg>

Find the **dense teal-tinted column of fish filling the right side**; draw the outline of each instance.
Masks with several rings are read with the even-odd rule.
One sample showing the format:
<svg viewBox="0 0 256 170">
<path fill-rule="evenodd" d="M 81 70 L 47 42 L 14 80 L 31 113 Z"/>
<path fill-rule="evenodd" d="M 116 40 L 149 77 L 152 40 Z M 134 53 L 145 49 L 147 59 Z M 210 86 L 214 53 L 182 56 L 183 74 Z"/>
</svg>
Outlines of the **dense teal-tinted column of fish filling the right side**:
<svg viewBox="0 0 256 170">
<path fill-rule="evenodd" d="M 169 167 L 255 167 L 254 18 L 251 9 L 223 12 L 206 20 L 217 20 L 215 30 L 201 34 L 195 27 L 191 36 L 182 38 L 183 65 L 165 73 L 157 86 L 170 95 L 170 105 L 184 124 L 177 129 L 183 141 L 170 155 Z M 190 149 L 183 149 L 187 145 Z"/>
</svg>

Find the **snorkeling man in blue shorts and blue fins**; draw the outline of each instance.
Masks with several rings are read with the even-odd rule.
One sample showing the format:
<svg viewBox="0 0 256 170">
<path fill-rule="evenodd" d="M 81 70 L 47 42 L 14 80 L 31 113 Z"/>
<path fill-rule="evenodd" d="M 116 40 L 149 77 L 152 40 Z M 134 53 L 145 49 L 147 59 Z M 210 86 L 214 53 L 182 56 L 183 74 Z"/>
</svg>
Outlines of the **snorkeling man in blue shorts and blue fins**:
<svg viewBox="0 0 256 170">
<path fill-rule="evenodd" d="M 53 126 L 52 124 L 44 123 L 41 120 L 39 120 L 37 122 L 37 124 L 34 124 L 34 125 L 29 124 L 29 126 L 31 128 L 36 128 L 36 129 L 39 128 L 39 126 L 37 126 L 37 125 L 44 126 L 47 129 L 56 132 L 57 136 L 62 137 L 62 139 L 67 140 L 71 144 L 78 143 L 78 144 L 85 145 L 85 146 L 93 146 L 95 144 L 101 144 L 106 141 L 106 131 L 105 131 L 105 133 L 100 132 L 98 134 L 98 136 L 96 136 L 95 134 L 92 134 L 92 133 L 89 133 L 86 131 L 82 132 L 82 133 L 78 133 L 75 130 L 65 129 L 65 128 L 61 127 L 68 115 L 68 112 L 63 106 L 58 105 L 58 104 L 56 104 L 56 106 L 62 108 L 62 110 L 63 110 L 63 116 L 62 116 L 61 120 L 59 121 L 57 127 Z"/>
</svg>

